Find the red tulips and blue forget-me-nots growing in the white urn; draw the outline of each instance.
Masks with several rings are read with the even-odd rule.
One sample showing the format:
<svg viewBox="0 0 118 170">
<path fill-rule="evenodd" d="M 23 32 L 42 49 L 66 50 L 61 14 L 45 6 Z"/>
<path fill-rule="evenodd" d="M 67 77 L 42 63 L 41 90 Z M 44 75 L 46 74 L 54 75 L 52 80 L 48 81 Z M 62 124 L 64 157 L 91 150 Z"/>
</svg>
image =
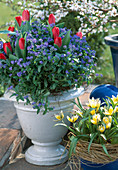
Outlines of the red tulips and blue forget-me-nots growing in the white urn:
<svg viewBox="0 0 118 170">
<path fill-rule="evenodd" d="M 53 14 L 47 24 L 31 20 L 24 10 L 15 17 L 15 27 L 0 32 L 9 38 L 0 41 L 0 83 L 14 91 L 17 101 L 32 104 L 37 113 L 43 107 L 45 114 L 53 109 L 49 95 L 91 81 L 95 51 L 81 32 L 71 36 L 64 23 L 56 25 Z"/>
</svg>

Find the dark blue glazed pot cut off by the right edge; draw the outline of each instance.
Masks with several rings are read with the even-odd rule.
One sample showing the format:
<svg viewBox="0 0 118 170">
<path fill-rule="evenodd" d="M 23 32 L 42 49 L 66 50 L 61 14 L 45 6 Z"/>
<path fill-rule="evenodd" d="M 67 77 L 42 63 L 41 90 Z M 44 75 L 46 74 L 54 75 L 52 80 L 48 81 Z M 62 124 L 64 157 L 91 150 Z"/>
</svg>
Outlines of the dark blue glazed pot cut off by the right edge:
<svg viewBox="0 0 118 170">
<path fill-rule="evenodd" d="M 106 36 L 104 40 L 111 49 L 116 86 L 118 87 L 118 34 Z"/>
</svg>

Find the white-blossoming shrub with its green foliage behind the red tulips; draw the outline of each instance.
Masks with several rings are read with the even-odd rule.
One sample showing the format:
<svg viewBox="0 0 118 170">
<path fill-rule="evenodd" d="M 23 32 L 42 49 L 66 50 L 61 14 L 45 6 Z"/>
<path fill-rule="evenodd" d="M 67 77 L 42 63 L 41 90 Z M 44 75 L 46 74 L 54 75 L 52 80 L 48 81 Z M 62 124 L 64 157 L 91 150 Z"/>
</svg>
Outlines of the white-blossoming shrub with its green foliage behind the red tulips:
<svg viewBox="0 0 118 170">
<path fill-rule="evenodd" d="M 99 57 L 104 49 L 103 37 L 118 25 L 116 0 L 3 0 L 14 10 L 27 8 L 36 19 L 47 19 L 53 13 L 56 22 L 65 22 L 74 33 L 81 31 Z"/>
</svg>

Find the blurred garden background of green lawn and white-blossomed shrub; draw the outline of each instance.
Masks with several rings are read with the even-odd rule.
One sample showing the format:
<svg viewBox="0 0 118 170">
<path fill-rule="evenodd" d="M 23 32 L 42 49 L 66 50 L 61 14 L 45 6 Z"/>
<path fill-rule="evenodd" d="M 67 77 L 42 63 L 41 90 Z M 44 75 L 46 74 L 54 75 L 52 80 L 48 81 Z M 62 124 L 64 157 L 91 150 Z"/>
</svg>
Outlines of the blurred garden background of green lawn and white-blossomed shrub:
<svg viewBox="0 0 118 170">
<path fill-rule="evenodd" d="M 89 9 L 92 5 L 97 12 L 94 8 Z M 0 30 L 13 26 L 15 16 L 21 15 L 22 11 L 28 8 L 31 15 L 35 15 L 36 18 L 44 17 L 45 20 L 50 13 L 54 13 L 56 20 L 65 22 L 65 26 L 71 28 L 73 34 L 81 31 L 87 37 L 89 45 L 96 51 L 96 73 L 101 76 L 96 77 L 93 83 L 115 85 L 112 56 L 110 48 L 104 43 L 104 36 L 118 32 L 118 1 L 80 0 L 76 3 L 76 0 L 0 0 L 0 7 Z M 63 15 L 59 18 L 62 11 Z M 5 35 L 0 35 L 0 38 L 7 40 Z M 0 86 L 0 96 L 2 94 L 3 87 Z"/>
</svg>

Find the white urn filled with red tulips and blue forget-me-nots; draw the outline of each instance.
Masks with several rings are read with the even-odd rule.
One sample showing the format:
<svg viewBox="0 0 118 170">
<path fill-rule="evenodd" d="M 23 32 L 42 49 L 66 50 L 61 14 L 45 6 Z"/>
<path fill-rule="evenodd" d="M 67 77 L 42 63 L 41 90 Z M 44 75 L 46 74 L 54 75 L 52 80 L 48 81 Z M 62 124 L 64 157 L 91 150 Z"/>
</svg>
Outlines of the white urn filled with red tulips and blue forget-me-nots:
<svg viewBox="0 0 118 170">
<path fill-rule="evenodd" d="M 55 24 L 53 14 L 47 23 L 31 22 L 24 10 L 15 17 L 15 27 L 0 31 L 10 39 L 0 42 L 0 82 L 8 88 L 5 97 L 14 101 L 21 127 L 34 144 L 25 158 L 37 165 L 67 160 L 68 152 L 60 145 L 67 129 L 54 127 L 54 115 L 62 110 L 66 117 L 73 107 L 70 101 L 94 74 L 95 51 L 82 33 L 72 36 L 63 26 Z"/>
</svg>

